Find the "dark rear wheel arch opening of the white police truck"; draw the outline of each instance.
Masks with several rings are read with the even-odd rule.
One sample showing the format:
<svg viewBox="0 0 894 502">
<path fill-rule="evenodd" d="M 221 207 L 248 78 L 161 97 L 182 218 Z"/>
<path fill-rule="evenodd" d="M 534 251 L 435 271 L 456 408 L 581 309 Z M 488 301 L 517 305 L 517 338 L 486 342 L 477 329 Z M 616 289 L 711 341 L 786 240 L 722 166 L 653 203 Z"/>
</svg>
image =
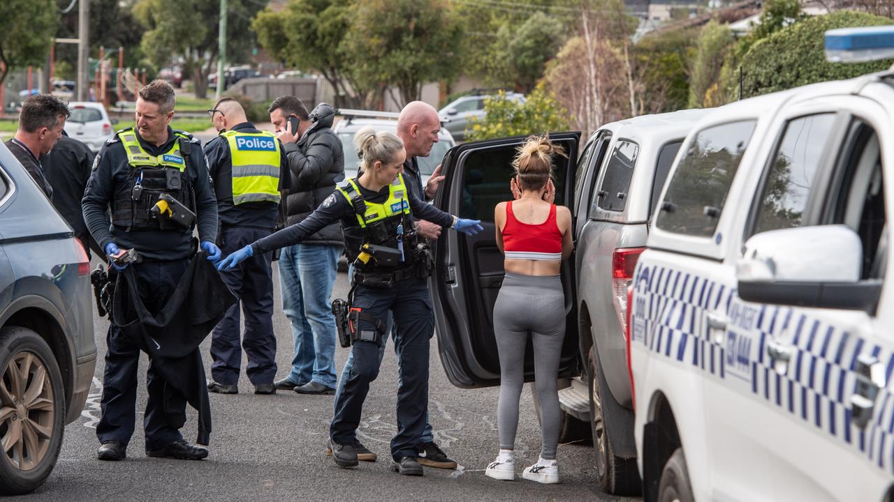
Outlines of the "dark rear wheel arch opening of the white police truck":
<svg viewBox="0 0 894 502">
<path fill-rule="evenodd" d="M 649 399 L 645 413 L 647 418 L 642 435 L 641 474 L 643 499 L 645 502 L 652 502 L 658 499 L 658 487 L 664 464 L 667 464 L 674 451 L 683 447 L 683 444 L 671 401 L 661 390 L 655 391 Z"/>
</svg>

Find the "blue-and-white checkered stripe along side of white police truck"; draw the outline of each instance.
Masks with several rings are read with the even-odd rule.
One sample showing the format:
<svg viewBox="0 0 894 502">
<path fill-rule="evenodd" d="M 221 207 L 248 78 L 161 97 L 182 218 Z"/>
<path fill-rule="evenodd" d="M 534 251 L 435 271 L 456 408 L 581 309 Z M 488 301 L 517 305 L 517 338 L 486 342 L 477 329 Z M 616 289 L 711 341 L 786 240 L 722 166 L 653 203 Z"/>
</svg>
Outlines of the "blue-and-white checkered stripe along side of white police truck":
<svg viewBox="0 0 894 502">
<path fill-rule="evenodd" d="M 738 300 L 735 289 L 692 273 L 641 264 L 634 287 L 631 307 L 637 322 L 632 327 L 632 343 L 641 343 L 655 354 L 715 378 L 746 381 L 753 395 L 894 473 L 894 389 L 890 384 L 894 354 L 889 348 L 800 309 L 745 304 Z M 730 318 L 720 340 L 709 333 L 706 319 L 711 312 Z M 747 316 L 750 329 L 737 324 L 742 316 Z M 773 339 L 789 340 L 794 349 L 782 374 L 767 353 L 767 344 Z M 738 346 L 730 345 L 733 340 Z M 889 382 L 876 398 L 873 419 L 864 430 L 851 423 L 847 401 L 856 384 L 856 361 L 861 355 L 872 355 L 885 364 Z"/>
</svg>

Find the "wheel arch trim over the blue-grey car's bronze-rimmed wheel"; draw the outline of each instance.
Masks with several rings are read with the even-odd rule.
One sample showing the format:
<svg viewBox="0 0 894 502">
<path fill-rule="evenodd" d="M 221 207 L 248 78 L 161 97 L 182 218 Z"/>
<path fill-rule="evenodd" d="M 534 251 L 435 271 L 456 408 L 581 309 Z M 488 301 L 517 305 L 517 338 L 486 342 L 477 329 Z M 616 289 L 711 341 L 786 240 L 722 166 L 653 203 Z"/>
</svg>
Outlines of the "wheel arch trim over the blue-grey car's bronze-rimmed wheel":
<svg viewBox="0 0 894 502">
<path fill-rule="evenodd" d="M 65 336 L 64 318 L 55 305 L 45 298 L 28 296 L 13 300 L 13 303 L 0 314 L 0 327 L 19 326 L 38 333 L 40 338 L 50 346 L 59 372 L 62 373 L 65 389 L 66 405 L 72 402 L 74 392 L 74 371 L 72 340 Z"/>
</svg>

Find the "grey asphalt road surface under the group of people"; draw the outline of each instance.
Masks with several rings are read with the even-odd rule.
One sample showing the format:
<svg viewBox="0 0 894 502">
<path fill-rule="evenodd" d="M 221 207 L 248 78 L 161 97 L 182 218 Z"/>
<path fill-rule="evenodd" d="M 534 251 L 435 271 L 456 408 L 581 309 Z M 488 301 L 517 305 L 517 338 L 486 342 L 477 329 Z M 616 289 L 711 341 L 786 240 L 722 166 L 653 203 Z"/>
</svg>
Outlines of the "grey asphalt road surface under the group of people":
<svg viewBox="0 0 894 502">
<path fill-rule="evenodd" d="M 274 270 L 274 329 L 279 348 L 277 376 L 282 377 L 291 364 L 292 344 L 289 322 L 279 303 L 276 273 Z M 347 276 L 341 272 L 334 295 L 346 294 Z M 561 484 L 539 485 L 520 479 L 520 469 L 536 461 L 540 448 L 527 388 L 522 394 L 516 442 L 518 481 L 485 477 L 484 469 L 493 461 L 499 444 L 495 423 L 498 389 L 453 387 L 444 376 L 436 343 L 431 349 L 431 421 L 435 440 L 461 465 L 455 471 L 426 467 L 422 478 L 391 472 L 388 441 L 396 429 L 397 367 L 390 349 L 370 390 L 358 430 L 359 439 L 378 453 L 375 464 L 361 462 L 356 469 L 343 470 L 325 456 L 332 396 L 299 396 L 291 391 L 256 396 L 244 372 L 239 395 L 211 395 L 214 431 L 206 460 L 148 458 L 140 426 L 146 403 L 145 355 L 141 360 L 137 432 L 131 439 L 128 458 L 117 463 L 101 462 L 96 458 L 95 424 L 106 327 L 105 319 L 95 318 L 100 357 L 86 409 L 79 420 L 66 427 L 53 473 L 23 500 L 632 500 L 606 496 L 598 489 L 593 481 L 593 448 L 589 444 L 560 446 Z M 210 337 L 203 346 L 206 369 L 211 364 L 209 343 Z M 347 356 L 348 349 L 337 347 L 339 371 Z M 195 439 L 196 414 L 191 408 L 189 413 L 183 432 L 188 439 Z"/>
</svg>

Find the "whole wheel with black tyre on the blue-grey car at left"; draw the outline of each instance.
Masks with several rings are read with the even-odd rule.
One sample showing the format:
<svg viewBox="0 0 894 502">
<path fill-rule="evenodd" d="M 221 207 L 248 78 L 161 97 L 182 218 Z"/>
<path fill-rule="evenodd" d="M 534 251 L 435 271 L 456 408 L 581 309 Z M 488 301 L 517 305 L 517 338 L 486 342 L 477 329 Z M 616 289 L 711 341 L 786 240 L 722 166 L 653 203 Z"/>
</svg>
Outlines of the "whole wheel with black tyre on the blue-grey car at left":
<svg viewBox="0 0 894 502">
<path fill-rule="evenodd" d="M 0 494 L 28 493 L 46 480 L 64 417 L 62 373 L 46 341 L 27 328 L 0 329 Z"/>
</svg>

